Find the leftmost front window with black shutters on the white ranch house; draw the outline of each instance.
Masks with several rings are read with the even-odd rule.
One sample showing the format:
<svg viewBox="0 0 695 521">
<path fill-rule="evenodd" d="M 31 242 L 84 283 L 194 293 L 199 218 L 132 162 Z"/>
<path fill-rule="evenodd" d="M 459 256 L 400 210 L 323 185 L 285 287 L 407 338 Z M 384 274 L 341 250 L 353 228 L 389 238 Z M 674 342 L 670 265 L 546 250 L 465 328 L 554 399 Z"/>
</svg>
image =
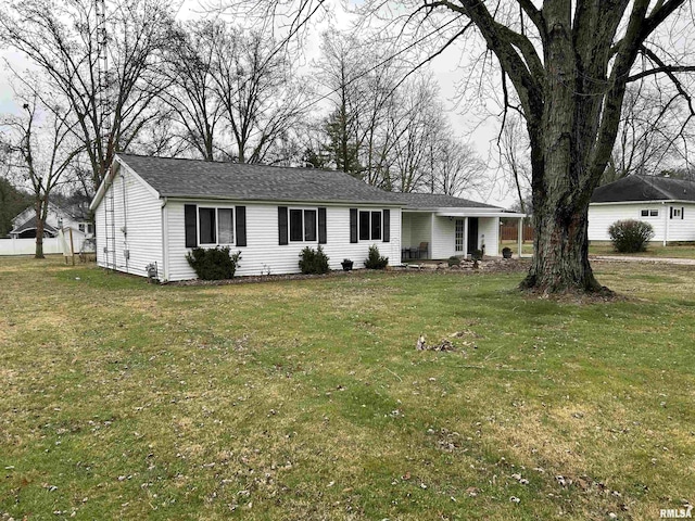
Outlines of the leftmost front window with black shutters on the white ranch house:
<svg viewBox="0 0 695 521">
<path fill-rule="evenodd" d="M 186 247 L 218 244 L 247 245 L 247 207 L 211 207 L 186 204 Z"/>
</svg>

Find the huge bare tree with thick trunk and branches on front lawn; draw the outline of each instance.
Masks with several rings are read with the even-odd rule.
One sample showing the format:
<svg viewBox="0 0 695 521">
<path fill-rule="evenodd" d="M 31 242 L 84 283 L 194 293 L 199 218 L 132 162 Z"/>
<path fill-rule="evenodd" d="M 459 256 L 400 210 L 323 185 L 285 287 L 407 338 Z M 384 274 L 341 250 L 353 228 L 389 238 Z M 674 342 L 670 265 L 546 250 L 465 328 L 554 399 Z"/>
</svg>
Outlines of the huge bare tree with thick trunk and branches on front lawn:
<svg viewBox="0 0 695 521">
<path fill-rule="evenodd" d="M 298 27 L 326 5 L 321 0 L 264 4 L 269 14 L 293 14 Z M 422 41 L 425 33 L 429 41 L 439 37 L 427 46 L 424 62 L 463 38 L 484 45 L 484 56 L 494 62 L 481 63 L 501 72 L 505 104 L 509 88 L 516 92 L 515 109 L 529 135 L 535 228 L 523 288 L 603 291 L 589 263 L 589 202 L 610 161 L 628 84 L 666 77 L 695 114 L 683 79 L 695 65 L 679 60 L 692 58 L 693 50 L 683 48 L 678 30 L 674 41 L 666 41 L 679 15 L 683 27 L 692 22 L 687 5 L 686 0 L 372 0 L 364 8 L 371 20 L 389 18 L 404 47 Z M 666 47 L 670 52 L 662 52 Z"/>
</svg>

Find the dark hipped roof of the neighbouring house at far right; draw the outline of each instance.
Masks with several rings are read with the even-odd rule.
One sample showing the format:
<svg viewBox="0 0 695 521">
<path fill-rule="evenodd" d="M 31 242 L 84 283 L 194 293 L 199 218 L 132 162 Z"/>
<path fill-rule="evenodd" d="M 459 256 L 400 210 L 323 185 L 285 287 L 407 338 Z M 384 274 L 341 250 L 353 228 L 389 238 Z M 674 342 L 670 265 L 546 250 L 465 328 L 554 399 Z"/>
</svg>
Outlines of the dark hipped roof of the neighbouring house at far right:
<svg viewBox="0 0 695 521">
<path fill-rule="evenodd" d="M 628 176 L 594 190 L 592 203 L 695 201 L 695 182 L 656 176 Z"/>
</svg>

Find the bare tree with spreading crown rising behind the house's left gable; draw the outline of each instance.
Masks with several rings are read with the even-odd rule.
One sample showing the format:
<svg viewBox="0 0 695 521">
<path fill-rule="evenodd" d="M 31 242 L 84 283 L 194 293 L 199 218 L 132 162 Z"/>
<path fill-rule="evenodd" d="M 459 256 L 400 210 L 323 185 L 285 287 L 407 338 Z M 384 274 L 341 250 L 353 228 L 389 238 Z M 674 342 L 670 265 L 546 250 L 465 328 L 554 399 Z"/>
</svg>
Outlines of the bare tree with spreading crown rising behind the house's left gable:
<svg viewBox="0 0 695 521">
<path fill-rule="evenodd" d="M 156 68 L 170 25 L 167 2 L 109 2 L 109 69 L 100 85 L 94 5 L 91 0 L 22 0 L 0 13 L 0 41 L 24 52 L 66 100 L 89 160 L 91 190 L 115 152 L 127 150 L 156 117 L 150 105 L 163 87 Z"/>
</svg>

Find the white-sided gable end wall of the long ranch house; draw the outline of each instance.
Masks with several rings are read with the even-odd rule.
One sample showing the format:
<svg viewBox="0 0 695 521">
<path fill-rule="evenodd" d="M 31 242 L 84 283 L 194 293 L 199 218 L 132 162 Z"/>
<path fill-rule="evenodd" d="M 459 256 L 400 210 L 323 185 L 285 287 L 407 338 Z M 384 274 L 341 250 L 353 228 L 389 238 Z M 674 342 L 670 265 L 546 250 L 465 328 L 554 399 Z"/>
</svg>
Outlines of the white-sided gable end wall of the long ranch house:
<svg viewBox="0 0 695 521">
<path fill-rule="evenodd" d="M 105 227 L 105 208 L 113 195 L 114 226 Z M 163 269 L 162 208 L 149 187 L 121 167 L 94 209 L 97 263 L 127 274 L 147 276 L 146 267 L 156 263 Z M 115 252 L 114 252 L 115 246 Z M 104 253 L 109 250 L 109 257 Z M 108 264 L 106 264 L 108 260 Z"/>
</svg>

